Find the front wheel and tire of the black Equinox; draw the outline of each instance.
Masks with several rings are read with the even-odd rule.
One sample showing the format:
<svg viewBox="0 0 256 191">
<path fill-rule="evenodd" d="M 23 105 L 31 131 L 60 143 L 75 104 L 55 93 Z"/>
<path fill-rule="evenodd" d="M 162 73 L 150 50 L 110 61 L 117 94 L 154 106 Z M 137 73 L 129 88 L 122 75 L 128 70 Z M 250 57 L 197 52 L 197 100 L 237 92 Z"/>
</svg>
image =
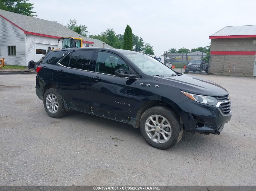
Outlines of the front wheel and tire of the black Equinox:
<svg viewBox="0 0 256 191">
<path fill-rule="evenodd" d="M 156 122 L 156 117 L 152 116 L 155 115 L 158 116 L 159 125 L 154 123 Z M 150 117 L 152 117 L 154 122 L 150 119 Z M 161 117 L 165 118 L 164 123 L 162 123 L 163 118 Z M 150 126 L 148 126 L 146 123 Z M 166 126 L 166 128 L 161 127 L 161 125 Z M 170 126 L 169 129 L 168 126 Z M 146 129 L 148 132 L 146 132 Z M 171 111 L 167 107 L 155 106 L 146 110 L 141 116 L 140 131 L 141 135 L 149 145 L 158 149 L 165 150 L 173 147 L 181 140 L 183 135 L 183 126 L 179 122 L 179 117 L 173 111 Z M 167 132 L 168 134 L 166 134 L 165 132 Z M 166 140 L 163 134 L 165 135 Z M 159 139 L 158 135 L 160 135 Z"/>
</svg>

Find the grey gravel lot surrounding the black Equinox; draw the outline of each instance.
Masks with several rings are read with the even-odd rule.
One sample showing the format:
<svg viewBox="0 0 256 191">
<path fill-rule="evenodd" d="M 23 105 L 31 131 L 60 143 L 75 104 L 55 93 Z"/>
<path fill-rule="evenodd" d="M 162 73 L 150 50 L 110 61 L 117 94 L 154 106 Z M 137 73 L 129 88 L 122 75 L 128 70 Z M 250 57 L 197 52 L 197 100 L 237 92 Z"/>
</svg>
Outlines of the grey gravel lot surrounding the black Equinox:
<svg viewBox="0 0 256 191">
<path fill-rule="evenodd" d="M 35 75 L 0 75 L 0 185 L 256 185 L 256 78 L 200 77 L 229 91 L 231 121 L 162 151 L 125 123 L 76 111 L 51 118 Z"/>
</svg>

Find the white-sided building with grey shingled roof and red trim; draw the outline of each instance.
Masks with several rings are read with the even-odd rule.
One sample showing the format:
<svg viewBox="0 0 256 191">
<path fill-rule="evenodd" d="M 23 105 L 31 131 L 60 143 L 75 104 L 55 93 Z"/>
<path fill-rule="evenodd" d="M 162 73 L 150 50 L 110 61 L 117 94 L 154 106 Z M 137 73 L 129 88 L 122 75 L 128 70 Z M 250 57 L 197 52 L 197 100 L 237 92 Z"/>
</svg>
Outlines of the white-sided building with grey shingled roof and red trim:
<svg viewBox="0 0 256 191">
<path fill-rule="evenodd" d="M 60 37 L 83 38 L 83 47 L 87 43 L 103 47 L 101 40 L 82 37 L 59 23 L 0 9 L 0 58 L 5 58 L 5 64 L 28 66 L 31 60 L 37 62 L 48 46 L 61 48 Z M 113 47 L 105 44 L 105 48 Z"/>
</svg>

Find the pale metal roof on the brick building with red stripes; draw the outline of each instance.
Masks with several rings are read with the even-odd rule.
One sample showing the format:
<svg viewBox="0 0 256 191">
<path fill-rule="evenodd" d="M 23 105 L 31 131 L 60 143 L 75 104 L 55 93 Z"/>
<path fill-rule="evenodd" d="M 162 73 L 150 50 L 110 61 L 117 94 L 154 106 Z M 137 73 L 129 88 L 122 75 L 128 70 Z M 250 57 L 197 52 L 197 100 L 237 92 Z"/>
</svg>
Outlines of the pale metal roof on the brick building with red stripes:
<svg viewBox="0 0 256 191">
<path fill-rule="evenodd" d="M 256 25 L 228 26 L 212 34 L 214 36 L 256 35 Z"/>
</svg>

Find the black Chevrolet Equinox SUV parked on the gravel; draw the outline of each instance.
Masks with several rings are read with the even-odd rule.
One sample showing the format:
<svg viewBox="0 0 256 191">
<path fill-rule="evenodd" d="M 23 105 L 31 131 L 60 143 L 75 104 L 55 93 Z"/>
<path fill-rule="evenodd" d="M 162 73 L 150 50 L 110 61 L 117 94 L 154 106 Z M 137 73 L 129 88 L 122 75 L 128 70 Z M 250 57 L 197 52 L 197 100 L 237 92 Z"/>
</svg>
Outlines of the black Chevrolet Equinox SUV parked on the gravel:
<svg viewBox="0 0 256 191">
<path fill-rule="evenodd" d="M 231 118 L 227 90 L 175 72 L 138 52 L 55 50 L 37 67 L 37 73 L 36 94 L 49 116 L 58 118 L 68 110 L 78 110 L 129 123 L 159 149 L 174 146 L 184 130 L 219 134 Z"/>
</svg>

